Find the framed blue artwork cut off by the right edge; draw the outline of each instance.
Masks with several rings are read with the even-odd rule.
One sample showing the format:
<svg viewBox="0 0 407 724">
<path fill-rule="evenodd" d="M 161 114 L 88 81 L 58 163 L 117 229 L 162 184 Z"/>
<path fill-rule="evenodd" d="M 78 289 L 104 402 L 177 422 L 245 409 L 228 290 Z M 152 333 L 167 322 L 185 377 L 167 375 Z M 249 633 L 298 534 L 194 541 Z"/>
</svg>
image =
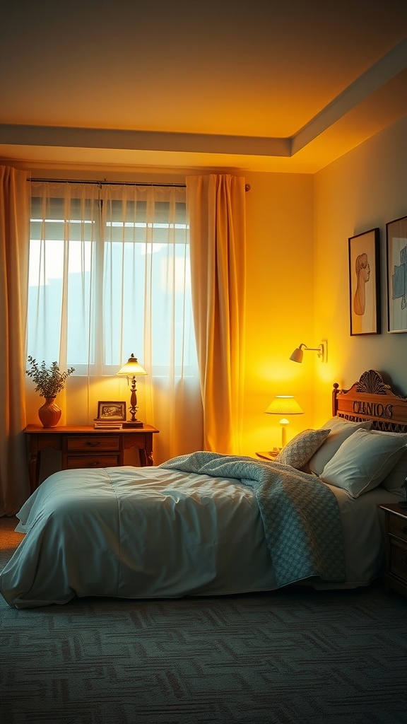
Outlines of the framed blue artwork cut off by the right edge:
<svg viewBox="0 0 407 724">
<path fill-rule="evenodd" d="M 387 331 L 407 332 L 407 216 L 386 224 Z"/>
</svg>

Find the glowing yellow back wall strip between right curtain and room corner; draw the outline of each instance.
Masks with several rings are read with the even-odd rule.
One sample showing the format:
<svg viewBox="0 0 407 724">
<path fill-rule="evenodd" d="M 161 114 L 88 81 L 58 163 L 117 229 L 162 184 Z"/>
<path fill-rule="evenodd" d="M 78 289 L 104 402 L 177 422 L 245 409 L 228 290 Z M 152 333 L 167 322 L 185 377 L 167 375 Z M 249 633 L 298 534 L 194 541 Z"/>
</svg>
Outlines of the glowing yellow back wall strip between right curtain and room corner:
<svg viewBox="0 0 407 724">
<path fill-rule="evenodd" d="M 246 173 L 246 384 L 243 454 L 281 445 L 280 416 L 265 415 L 274 395 L 294 395 L 290 439 L 311 426 L 314 342 L 313 181 L 307 174 Z M 319 340 L 318 340 L 319 341 Z"/>
</svg>

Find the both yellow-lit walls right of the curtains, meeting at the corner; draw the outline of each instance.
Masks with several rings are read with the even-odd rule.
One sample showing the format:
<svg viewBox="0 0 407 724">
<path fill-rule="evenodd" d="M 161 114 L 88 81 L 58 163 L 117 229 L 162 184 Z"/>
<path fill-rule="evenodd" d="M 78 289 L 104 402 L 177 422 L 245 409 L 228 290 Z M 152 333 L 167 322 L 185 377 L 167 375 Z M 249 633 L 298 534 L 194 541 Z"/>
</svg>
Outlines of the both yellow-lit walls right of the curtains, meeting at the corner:
<svg viewBox="0 0 407 724">
<path fill-rule="evenodd" d="M 246 174 L 246 389 L 243 454 L 280 444 L 274 395 L 304 414 L 288 439 L 331 415 L 332 384 L 377 369 L 407 395 L 407 334 L 387 332 L 386 222 L 407 215 L 407 117 L 321 172 Z M 311 210 L 312 209 L 312 210 Z M 351 337 L 348 237 L 380 229 L 381 334 Z M 328 361 L 288 360 L 300 342 L 328 342 Z"/>
</svg>

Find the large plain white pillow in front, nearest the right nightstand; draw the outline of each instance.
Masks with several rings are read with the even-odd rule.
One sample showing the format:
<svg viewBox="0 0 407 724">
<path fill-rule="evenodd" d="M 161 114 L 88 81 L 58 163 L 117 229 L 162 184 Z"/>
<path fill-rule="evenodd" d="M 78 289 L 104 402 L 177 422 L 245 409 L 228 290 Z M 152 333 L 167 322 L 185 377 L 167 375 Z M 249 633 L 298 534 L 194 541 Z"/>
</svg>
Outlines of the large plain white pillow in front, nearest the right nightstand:
<svg viewBox="0 0 407 724">
<path fill-rule="evenodd" d="M 385 479 L 406 445 L 407 434 L 358 429 L 345 439 L 319 477 L 356 498 Z"/>
</svg>

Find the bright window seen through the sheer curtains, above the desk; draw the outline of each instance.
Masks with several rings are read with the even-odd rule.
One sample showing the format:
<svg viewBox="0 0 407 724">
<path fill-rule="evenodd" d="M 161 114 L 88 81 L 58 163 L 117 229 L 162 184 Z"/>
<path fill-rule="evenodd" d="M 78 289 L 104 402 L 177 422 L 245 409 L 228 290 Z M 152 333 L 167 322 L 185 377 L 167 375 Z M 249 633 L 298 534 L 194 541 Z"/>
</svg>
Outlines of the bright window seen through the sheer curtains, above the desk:
<svg viewBox="0 0 407 724">
<path fill-rule="evenodd" d="M 195 367 L 185 190 L 67 186 L 33 190 L 28 354 L 77 374 L 130 352 L 157 374 Z"/>
</svg>

